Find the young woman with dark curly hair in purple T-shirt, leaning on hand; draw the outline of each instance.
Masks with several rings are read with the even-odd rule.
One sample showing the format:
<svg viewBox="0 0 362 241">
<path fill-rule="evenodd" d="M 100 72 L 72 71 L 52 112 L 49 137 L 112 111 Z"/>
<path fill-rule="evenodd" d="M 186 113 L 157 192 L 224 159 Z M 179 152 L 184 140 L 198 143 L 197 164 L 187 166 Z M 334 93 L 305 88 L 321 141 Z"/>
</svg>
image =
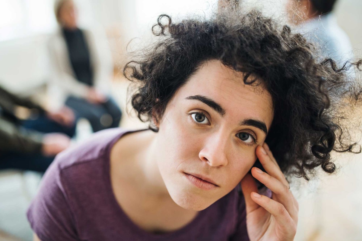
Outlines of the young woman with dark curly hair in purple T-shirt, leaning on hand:
<svg viewBox="0 0 362 241">
<path fill-rule="evenodd" d="M 359 97 L 346 68 L 257 11 L 161 15 L 153 33 L 125 67 L 150 129 L 59 154 L 28 210 L 34 240 L 293 240 L 286 177 L 333 173 L 332 150 L 359 151 L 338 122 Z"/>
</svg>

